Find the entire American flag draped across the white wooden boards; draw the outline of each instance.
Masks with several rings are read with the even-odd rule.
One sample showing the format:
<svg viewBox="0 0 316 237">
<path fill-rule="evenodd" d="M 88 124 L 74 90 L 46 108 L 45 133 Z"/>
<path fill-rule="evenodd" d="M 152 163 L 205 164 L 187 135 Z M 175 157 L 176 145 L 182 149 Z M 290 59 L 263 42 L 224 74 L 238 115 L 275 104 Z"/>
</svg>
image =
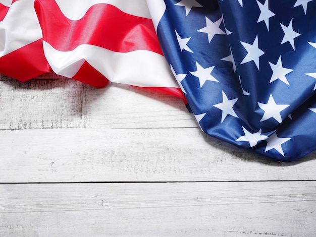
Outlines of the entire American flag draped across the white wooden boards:
<svg viewBox="0 0 316 237">
<path fill-rule="evenodd" d="M 0 0 L 0 72 L 186 98 L 208 135 L 292 161 L 316 148 L 315 22 L 315 0 Z"/>
</svg>

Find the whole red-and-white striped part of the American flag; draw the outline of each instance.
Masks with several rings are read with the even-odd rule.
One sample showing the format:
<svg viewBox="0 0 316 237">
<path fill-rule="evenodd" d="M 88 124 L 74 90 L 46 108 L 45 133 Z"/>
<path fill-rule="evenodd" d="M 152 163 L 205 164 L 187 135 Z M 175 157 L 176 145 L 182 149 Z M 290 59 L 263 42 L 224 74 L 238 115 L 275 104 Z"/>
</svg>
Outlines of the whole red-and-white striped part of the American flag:
<svg viewBox="0 0 316 237">
<path fill-rule="evenodd" d="M 0 3 L 1 73 L 27 81 L 52 69 L 95 87 L 111 81 L 184 99 L 145 0 Z"/>
</svg>

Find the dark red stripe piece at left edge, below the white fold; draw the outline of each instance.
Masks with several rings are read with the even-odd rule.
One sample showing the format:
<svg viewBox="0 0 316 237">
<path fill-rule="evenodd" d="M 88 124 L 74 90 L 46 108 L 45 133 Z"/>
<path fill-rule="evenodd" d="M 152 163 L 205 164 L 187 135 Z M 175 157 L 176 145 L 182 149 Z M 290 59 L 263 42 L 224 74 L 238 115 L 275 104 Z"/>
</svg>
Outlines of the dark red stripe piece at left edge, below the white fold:
<svg viewBox="0 0 316 237">
<path fill-rule="evenodd" d="M 0 57 L 0 73 L 22 82 L 49 71 L 41 39 Z"/>
</svg>

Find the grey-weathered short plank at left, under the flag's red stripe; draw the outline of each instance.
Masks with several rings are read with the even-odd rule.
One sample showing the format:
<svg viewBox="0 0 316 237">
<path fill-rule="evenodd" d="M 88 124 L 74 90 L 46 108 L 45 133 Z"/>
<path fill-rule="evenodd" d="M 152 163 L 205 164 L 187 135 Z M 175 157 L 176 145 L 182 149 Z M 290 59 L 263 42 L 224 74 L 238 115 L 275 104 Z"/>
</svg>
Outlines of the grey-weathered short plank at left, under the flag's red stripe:
<svg viewBox="0 0 316 237">
<path fill-rule="evenodd" d="M 0 81 L 0 129 L 81 128 L 84 84 Z"/>
</svg>

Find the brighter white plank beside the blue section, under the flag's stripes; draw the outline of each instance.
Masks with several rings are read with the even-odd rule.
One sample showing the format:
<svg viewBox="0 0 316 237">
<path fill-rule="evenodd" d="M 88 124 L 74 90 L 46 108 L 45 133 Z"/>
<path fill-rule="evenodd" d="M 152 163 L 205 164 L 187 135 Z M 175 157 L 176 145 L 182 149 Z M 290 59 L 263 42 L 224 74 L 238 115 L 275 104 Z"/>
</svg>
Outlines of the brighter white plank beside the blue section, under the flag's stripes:
<svg viewBox="0 0 316 237">
<path fill-rule="evenodd" d="M 86 86 L 83 117 L 85 128 L 198 128 L 182 99 L 114 83 Z"/>
</svg>

